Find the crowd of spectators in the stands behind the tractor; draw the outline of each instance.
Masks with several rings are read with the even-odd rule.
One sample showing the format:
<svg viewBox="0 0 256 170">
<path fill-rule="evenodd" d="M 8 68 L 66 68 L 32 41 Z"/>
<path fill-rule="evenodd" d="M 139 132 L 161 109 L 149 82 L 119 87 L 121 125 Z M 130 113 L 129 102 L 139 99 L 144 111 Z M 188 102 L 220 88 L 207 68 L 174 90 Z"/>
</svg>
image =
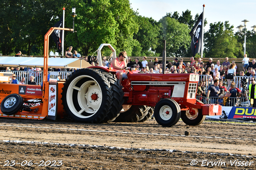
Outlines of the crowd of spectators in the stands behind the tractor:
<svg viewBox="0 0 256 170">
<path fill-rule="evenodd" d="M 66 58 L 82 58 L 82 56 L 77 53 L 77 51 L 71 52 L 72 47 L 70 46 L 68 51 L 65 52 Z M 21 57 L 21 52 L 19 51 L 15 57 Z M 32 56 L 30 56 L 32 57 Z M 98 66 L 98 60 L 96 57 L 88 56 L 84 57 L 84 60 L 89 62 L 92 66 Z M 102 65 L 103 66 L 110 66 L 109 63 L 109 57 L 103 57 Z M 255 68 L 256 68 L 256 61 L 253 59 L 251 63 L 250 59 L 247 57 L 247 55 L 244 55 L 244 59 L 242 60 L 243 70 L 240 71 L 239 76 L 242 76 L 241 80 L 244 82 L 246 78 L 244 77 L 255 77 Z M 127 57 L 126 59 L 127 66 L 135 65 L 136 70 L 139 70 L 141 73 L 162 73 L 163 72 L 163 64 L 161 61 L 158 60 L 158 58 L 154 59 L 154 65 L 152 68 L 149 67 L 147 57 L 144 56 L 142 61 L 139 60 L 139 58 L 136 58 L 134 62 L 131 61 L 130 57 Z M 6 71 L 29 71 L 29 81 L 28 84 L 34 84 L 35 79 L 40 76 L 41 68 L 4 68 Z M 63 72 L 63 71 L 75 71 L 76 69 L 70 69 L 66 70 L 66 68 L 54 68 L 49 69 L 49 71 L 57 71 L 57 72 Z M 231 63 L 228 61 L 228 57 L 225 58 L 225 61 L 223 63 L 220 63 L 218 60 L 216 63 L 212 61 L 212 58 L 209 58 L 209 61 L 207 63 L 202 62 L 202 59 L 199 58 L 195 61 L 194 57 L 190 58 L 190 62 L 184 63 L 183 59 L 175 58 L 174 62 L 166 61 L 165 66 L 165 72 L 168 74 L 178 74 L 178 73 L 194 73 L 199 75 L 205 75 L 200 76 L 200 81 L 198 83 L 198 89 L 196 96 L 199 100 L 202 102 L 210 102 L 214 104 L 221 104 L 222 106 L 238 106 L 237 98 L 241 97 L 243 103 L 246 103 L 247 96 L 244 92 L 242 92 L 242 88 L 236 88 L 235 82 L 234 82 L 234 76 L 236 76 L 236 70 L 237 66 L 235 61 L 232 61 Z M 17 76 L 19 76 L 20 82 L 17 80 Z M 61 77 L 59 76 L 59 79 Z M 13 81 L 14 84 L 24 84 L 25 78 L 24 76 L 21 77 L 21 75 L 13 75 Z M 249 83 L 248 83 L 249 84 Z M 238 84 L 238 87 L 240 87 L 241 84 Z M 248 86 L 246 86 L 247 88 Z M 250 89 L 244 89 L 249 90 Z M 228 99 L 227 99 L 228 98 Z M 225 102 L 226 101 L 226 102 Z M 247 101 L 248 103 L 248 101 Z"/>
</svg>

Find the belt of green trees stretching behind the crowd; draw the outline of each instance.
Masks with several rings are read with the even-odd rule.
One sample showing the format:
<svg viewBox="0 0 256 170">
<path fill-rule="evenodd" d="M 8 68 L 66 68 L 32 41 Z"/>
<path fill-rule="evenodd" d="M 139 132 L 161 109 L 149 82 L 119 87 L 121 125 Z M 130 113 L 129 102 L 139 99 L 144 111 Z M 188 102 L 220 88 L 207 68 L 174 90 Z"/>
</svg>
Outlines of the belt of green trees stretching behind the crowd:
<svg viewBox="0 0 256 170">
<path fill-rule="evenodd" d="M 101 43 L 110 43 L 117 51 L 130 56 L 162 55 L 162 39 L 166 39 L 167 56 L 191 57 L 191 28 L 199 14 L 190 10 L 167 13 L 159 21 L 140 16 L 130 7 L 129 0 L 2 0 L 0 3 L 0 53 L 10 55 L 22 51 L 26 55 L 43 55 L 44 35 L 62 16 L 65 7 L 65 27 L 73 27 L 70 17 L 76 7 L 75 33 L 65 32 L 64 49 L 82 55 L 92 55 Z M 207 21 L 204 19 L 204 26 Z M 233 33 L 233 25 L 210 23 L 204 33 L 205 57 L 243 57 L 244 35 Z M 250 31 L 248 31 L 250 32 Z M 256 55 L 256 35 L 246 35 L 246 53 Z M 50 38 L 50 50 L 56 45 Z M 103 49 L 102 55 L 111 52 Z"/>
</svg>

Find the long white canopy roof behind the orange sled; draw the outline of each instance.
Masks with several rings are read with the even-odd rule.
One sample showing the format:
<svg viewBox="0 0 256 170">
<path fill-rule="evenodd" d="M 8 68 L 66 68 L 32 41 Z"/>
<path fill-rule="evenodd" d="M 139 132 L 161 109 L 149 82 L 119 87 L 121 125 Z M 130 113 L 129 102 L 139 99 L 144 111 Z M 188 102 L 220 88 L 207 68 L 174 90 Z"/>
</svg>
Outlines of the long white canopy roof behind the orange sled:
<svg viewBox="0 0 256 170">
<path fill-rule="evenodd" d="M 44 67 L 42 57 L 0 57 L 0 66 L 6 67 Z M 49 58 L 48 68 L 87 68 L 92 66 L 84 59 Z"/>
</svg>

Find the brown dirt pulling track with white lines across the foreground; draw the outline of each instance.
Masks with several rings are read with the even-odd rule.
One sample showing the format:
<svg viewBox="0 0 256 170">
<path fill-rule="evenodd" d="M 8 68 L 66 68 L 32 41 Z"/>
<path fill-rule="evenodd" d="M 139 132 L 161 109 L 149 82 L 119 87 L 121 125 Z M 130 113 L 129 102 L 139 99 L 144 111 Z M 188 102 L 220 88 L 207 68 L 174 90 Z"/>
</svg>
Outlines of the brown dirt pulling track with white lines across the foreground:
<svg viewBox="0 0 256 170">
<path fill-rule="evenodd" d="M 185 136 L 185 131 L 190 135 Z M 68 119 L 2 118 L 0 169 L 253 170 L 255 135 L 253 124 L 204 122 L 192 127 L 179 121 L 173 127 L 162 127 L 154 119 L 144 123 L 85 124 L 70 123 Z M 26 161 L 33 165 L 28 166 Z M 248 165 L 238 166 L 242 161 Z M 22 162 L 24 166 L 18 164 Z M 202 166 L 207 162 L 208 166 Z"/>
</svg>

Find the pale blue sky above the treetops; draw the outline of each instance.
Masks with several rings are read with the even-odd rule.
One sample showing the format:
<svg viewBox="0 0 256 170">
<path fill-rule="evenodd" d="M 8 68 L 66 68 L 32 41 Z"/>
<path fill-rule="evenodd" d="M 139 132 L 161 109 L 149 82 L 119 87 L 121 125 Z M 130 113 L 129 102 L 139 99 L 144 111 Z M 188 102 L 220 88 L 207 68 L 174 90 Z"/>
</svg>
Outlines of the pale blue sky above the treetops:
<svg viewBox="0 0 256 170">
<path fill-rule="evenodd" d="M 243 20 L 248 20 L 246 28 L 252 30 L 252 26 L 256 25 L 256 0 L 130 0 L 133 10 L 137 10 L 139 15 L 152 17 L 159 21 L 166 13 L 178 11 L 181 15 L 182 11 L 187 9 L 194 16 L 201 14 L 204 8 L 204 18 L 208 24 L 204 28 L 206 31 L 210 28 L 210 23 L 218 21 L 229 21 L 230 25 L 234 25 L 234 31 L 238 25 L 243 25 Z"/>
</svg>

